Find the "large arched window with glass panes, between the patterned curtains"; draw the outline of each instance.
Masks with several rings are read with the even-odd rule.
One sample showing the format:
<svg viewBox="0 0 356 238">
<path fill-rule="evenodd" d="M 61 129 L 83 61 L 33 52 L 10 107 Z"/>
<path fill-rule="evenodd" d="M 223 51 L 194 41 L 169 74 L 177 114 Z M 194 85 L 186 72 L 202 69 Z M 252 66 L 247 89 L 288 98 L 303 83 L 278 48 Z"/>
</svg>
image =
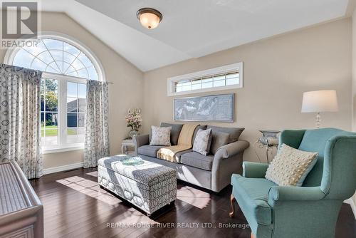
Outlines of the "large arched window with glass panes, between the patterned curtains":
<svg viewBox="0 0 356 238">
<path fill-rule="evenodd" d="M 36 46 L 12 48 L 5 62 L 42 71 L 41 145 L 44 152 L 83 147 L 86 81 L 103 81 L 93 53 L 73 38 L 42 34 Z"/>
</svg>

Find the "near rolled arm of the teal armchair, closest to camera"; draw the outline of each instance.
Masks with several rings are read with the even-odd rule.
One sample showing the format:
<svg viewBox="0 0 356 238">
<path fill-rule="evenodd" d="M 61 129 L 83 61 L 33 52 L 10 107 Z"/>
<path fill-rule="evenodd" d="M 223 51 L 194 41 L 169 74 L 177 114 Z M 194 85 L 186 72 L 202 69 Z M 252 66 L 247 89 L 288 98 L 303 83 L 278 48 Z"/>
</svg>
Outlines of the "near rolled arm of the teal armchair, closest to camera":
<svg viewBox="0 0 356 238">
<path fill-rule="evenodd" d="M 286 201 L 317 201 L 325 197 L 320 187 L 275 186 L 268 191 L 268 204 Z"/>
</svg>

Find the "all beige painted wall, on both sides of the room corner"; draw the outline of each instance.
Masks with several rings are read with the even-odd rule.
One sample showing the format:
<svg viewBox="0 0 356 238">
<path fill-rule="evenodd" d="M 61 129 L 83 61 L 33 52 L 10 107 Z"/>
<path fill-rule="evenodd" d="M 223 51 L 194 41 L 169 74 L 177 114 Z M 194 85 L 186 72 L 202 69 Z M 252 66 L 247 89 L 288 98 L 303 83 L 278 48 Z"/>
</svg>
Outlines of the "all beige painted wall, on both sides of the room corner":
<svg viewBox="0 0 356 238">
<path fill-rule="evenodd" d="M 103 64 L 107 80 L 114 82 L 109 92 L 111 154 L 120 152 L 120 142 L 129 131 L 124 120 L 127 108 L 143 108 L 144 132 L 160 121 L 172 121 L 173 97 L 167 97 L 167 78 L 240 61 L 244 62 L 244 88 L 218 92 L 235 93 L 236 121 L 214 124 L 245 127 L 241 138 L 251 144 L 258 137 L 259 129 L 313 128 L 314 115 L 300 113 L 303 91 L 336 89 L 340 111 L 324 113 L 323 126 L 351 129 L 350 19 L 238 46 L 145 74 L 65 14 L 43 13 L 42 24 L 43 31 L 65 33 L 88 46 Z M 4 54 L 1 50 L 0 58 Z M 83 151 L 43 157 L 45 168 L 56 167 L 83 161 Z M 245 160 L 256 160 L 252 148 L 246 152 Z"/>
</svg>

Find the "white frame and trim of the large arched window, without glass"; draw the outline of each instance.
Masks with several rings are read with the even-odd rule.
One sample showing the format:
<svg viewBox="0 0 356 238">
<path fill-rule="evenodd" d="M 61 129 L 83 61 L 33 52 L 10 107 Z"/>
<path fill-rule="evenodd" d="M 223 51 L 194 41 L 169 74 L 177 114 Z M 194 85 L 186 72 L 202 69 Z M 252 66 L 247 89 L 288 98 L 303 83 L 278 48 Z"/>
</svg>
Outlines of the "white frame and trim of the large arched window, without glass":
<svg viewBox="0 0 356 238">
<path fill-rule="evenodd" d="M 55 40 L 64 41 L 70 43 L 71 45 L 77 47 L 82 51 L 85 56 L 87 56 L 90 61 L 92 61 L 98 73 L 98 81 L 105 81 L 105 72 L 103 70 L 103 65 L 100 63 L 99 59 L 95 54 L 90 51 L 90 48 L 85 46 L 77 39 L 68 36 L 63 33 L 57 33 L 52 31 L 42 31 L 38 33 L 38 38 L 53 38 Z M 12 65 L 16 53 L 20 50 L 19 47 L 9 48 L 6 51 L 4 57 L 4 63 Z M 58 73 L 48 73 L 43 72 L 42 78 L 55 79 L 58 81 L 58 146 L 53 146 L 51 148 L 42 148 L 43 154 L 49 154 L 54 152 L 65 152 L 70 150 L 83 150 L 84 143 L 66 143 L 66 130 L 67 130 L 67 82 L 73 83 L 86 83 L 87 78 L 77 78 L 73 76 L 61 75 Z M 40 117 L 41 118 L 41 117 Z"/>
</svg>

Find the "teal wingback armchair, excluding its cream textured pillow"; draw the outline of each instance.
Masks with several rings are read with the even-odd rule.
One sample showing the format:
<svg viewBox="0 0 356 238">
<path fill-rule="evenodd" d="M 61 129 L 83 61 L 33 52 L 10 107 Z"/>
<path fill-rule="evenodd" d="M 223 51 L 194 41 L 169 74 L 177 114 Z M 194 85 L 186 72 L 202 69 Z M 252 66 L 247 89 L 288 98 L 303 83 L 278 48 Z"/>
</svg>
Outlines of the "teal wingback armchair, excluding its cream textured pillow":
<svg viewBox="0 0 356 238">
<path fill-rule="evenodd" d="M 356 133 L 335 128 L 284 130 L 280 143 L 318 152 L 318 162 L 302 187 L 265 179 L 268 165 L 244 162 L 232 175 L 230 216 L 237 201 L 256 238 L 335 237 L 342 202 L 356 189 Z"/>
</svg>

